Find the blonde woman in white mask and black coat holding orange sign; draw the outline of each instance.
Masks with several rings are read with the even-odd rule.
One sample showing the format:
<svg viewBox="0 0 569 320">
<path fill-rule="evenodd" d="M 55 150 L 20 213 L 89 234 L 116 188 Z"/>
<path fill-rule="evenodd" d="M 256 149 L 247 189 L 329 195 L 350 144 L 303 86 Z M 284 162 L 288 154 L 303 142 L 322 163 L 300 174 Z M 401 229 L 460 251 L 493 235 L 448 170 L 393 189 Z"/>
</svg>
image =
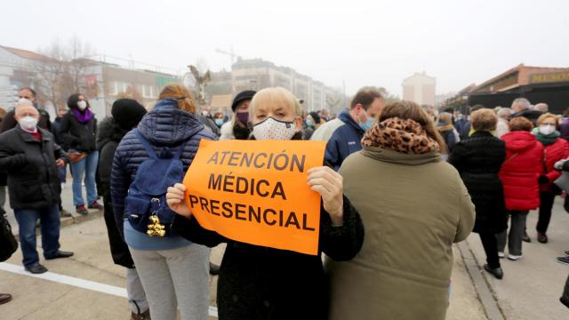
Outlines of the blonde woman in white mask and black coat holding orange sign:
<svg viewBox="0 0 569 320">
<path fill-rule="evenodd" d="M 249 115 L 253 139 L 301 140 L 301 106 L 283 88 L 257 92 Z M 340 174 L 325 166 L 310 168 L 305 183 L 322 199 L 317 253 L 352 259 L 363 244 L 364 227 L 343 196 Z M 167 202 L 179 214 L 172 228 L 197 244 L 228 244 L 217 292 L 221 320 L 326 318 L 328 293 L 320 254 L 245 244 L 202 228 L 186 204 L 186 191 L 180 183 L 168 188 Z"/>
</svg>

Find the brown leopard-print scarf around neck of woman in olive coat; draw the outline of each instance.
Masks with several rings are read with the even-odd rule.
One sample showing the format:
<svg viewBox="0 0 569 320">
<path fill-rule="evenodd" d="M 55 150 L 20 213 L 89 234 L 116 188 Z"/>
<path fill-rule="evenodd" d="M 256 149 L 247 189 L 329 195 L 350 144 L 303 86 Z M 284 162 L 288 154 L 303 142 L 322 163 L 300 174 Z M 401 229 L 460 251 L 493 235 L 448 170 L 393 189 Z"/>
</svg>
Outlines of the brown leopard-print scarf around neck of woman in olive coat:
<svg viewBox="0 0 569 320">
<path fill-rule="evenodd" d="M 388 148 L 405 154 L 426 154 L 440 151 L 436 140 L 411 119 L 389 118 L 376 123 L 365 132 L 362 145 L 367 147 Z"/>
</svg>

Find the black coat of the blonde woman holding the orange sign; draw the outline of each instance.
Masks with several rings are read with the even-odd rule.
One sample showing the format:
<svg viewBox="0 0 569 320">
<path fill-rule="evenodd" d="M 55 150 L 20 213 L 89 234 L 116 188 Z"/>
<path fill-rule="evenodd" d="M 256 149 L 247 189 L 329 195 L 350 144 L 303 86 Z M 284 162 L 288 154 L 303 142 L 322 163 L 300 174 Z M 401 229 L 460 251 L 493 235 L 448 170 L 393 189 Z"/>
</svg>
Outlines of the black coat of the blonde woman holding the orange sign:
<svg viewBox="0 0 569 320">
<path fill-rule="evenodd" d="M 316 256 L 229 240 L 201 228 L 196 219 L 176 216 L 173 230 L 209 247 L 227 243 L 220 268 L 217 306 L 220 319 L 326 319 L 328 290 L 321 254 Z M 319 252 L 351 260 L 364 243 L 364 226 L 344 197 L 344 224 L 332 227 L 320 213 Z"/>
</svg>

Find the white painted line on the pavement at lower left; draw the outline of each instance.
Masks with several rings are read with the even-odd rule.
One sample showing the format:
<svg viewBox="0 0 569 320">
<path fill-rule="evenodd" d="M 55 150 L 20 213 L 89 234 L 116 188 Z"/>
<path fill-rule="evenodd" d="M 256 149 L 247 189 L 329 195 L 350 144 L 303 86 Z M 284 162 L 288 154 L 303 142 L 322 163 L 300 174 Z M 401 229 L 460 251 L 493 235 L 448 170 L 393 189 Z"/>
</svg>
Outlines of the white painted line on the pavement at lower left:
<svg viewBox="0 0 569 320">
<path fill-rule="evenodd" d="M 11 263 L 5 263 L 5 262 L 0 262 L 0 270 L 12 272 L 14 274 L 21 275 L 21 276 L 31 276 L 31 277 L 35 277 L 35 278 L 42 279 L 42 280 L 52 281 L 52 282 L 58 283 L 58 284 L 68 284 L 68 285 L 75 286 L 77 288 L 91 290 L 94 292 L 101 292 L 101 293 L 105 293 L 105 294 L 114 295 L 116 297 L 128 299 L 128 296 L 126 295 L 126 289 L 121 288 L 121 287 L 117 287 L 115 285 L 100 284 L 100 283 L 96 283 L 93 281 L 77 278 L 75 276 L 65 276 L 65 275 L 56 274 L 56 273 L 53 273 L 50 271 L 48 271 L 44 274 L 41 274 L 41 275 L 34 275 L 34 274 L 27 272 L 21 266 L 16 266 L 16 265 L 13 265 Z M 210 306 L 209 315 L 217 317 L 217 308 Z"/>
</svg>

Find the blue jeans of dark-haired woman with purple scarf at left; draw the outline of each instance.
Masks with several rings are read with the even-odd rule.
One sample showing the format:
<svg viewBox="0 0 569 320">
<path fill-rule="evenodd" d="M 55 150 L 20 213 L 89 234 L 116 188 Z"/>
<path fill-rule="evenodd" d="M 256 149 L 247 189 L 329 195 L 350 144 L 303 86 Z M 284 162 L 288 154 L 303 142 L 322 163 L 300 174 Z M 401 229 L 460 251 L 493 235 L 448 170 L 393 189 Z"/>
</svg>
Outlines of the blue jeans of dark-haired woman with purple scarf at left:
<svg viewBox="0 0 569 320">
<path fill-rule="evenodd" d="M 73 204 L 84 205 L 81 182 L 83 177 L 87 188 L 87 204 L 92 204 L 97 200 L 97 188 L 95 187 L 95 172 L 99 164 L 99 151 L 93 151 L 85 156 L 81 161 L 71 166 L 71 176 L 73 176 Z"/>
</svg>

